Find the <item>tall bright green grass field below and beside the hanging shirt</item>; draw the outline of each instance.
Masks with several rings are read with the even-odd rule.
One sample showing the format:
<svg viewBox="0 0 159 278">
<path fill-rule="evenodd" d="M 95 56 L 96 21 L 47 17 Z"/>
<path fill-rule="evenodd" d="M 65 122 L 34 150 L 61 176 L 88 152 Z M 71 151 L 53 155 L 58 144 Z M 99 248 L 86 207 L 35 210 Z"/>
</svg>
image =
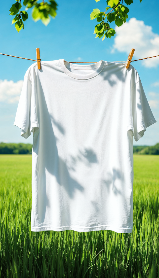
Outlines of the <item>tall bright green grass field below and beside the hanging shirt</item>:
<svg viewBox="0 0 159 278">
<path fill-rule="evenodd" d="M 0 277 L 159 277 L 159 155 L 134 155 L 133 232 L 30 232 L 31 155 L 0 155 Z"/>
</svg>

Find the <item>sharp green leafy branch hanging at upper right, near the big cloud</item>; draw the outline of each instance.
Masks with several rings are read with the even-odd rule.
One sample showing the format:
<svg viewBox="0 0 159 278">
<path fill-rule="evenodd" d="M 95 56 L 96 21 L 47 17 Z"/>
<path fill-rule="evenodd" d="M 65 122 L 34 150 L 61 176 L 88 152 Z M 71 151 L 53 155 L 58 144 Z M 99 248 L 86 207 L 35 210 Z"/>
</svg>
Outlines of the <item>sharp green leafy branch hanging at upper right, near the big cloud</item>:
<svg viewBox="0 0 159 278">
<path fill-rule="evenodd" d="M 98 2 L 100 0 L 96 0 Z M 121 4 L 122 1 L 122 4 Z M 142 0 L 140 0 L 141 3 Z M 124 0 L 124 2 L 127 5 L 130 5 L 133 3 L 133 0 Z M 97 22 L 100 22 L 95 26 L 94 34 L 96 34 L 96 37 L 102 38 L 102 41 L 106 38 L 111 38 L 111 36 L 114 36 L 115 30 L 113 28 L 110 28 L 110 25 L 108 21 L 111 23 L 115 21 L 115 24 L 119 27 L 123 24 L 123 22 L 126 22 L 126 19 L 128 19 L 128 13 L 129 9 L 127 6 L 123 5 L 123 0 L 107 0 L 106 11 L 101 12 L 99 9 L 94 9 L 92 13 L 90 14 L 90 19 L 97 19 Z M 112 9 L 111 9 L 112 8 Z M 109 13 L 106 13 L 109 9 Z M 107 22 L 105 22 L 107 20 Z"/>
</svg>

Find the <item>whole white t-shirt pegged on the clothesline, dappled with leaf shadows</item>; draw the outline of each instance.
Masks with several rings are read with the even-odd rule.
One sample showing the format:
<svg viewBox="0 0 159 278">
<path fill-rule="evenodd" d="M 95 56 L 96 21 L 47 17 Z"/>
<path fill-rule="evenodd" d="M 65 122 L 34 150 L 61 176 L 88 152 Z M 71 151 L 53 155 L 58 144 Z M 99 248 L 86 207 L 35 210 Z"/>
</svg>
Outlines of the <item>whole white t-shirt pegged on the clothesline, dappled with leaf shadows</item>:
<svg viewBox="0 0 159 278">
<path fill-rule="evenodd" d="M 31 231 L 131 233 L 133 136 L 155 122 L 131 64 L 32 64 L 14 121 L 33 132 Z"/>
</svg>

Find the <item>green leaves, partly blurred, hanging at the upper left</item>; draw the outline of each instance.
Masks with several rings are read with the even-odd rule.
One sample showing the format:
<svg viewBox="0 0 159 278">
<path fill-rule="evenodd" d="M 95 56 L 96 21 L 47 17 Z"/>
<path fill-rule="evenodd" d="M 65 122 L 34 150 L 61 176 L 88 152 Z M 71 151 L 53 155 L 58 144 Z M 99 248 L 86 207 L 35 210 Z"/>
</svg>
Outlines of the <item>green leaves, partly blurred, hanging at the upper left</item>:
<svg viewBox="0 0 159 278">
<path fill-rule="evenodd" d="M 16 0 L 16 3 L 12 5 L 10 8 L 10 15 L 15 16 L 12 20 L 12 24 L 15 23 L 16 30 L 19 31 L 23 28 L 24 29 L 24 23 L 23 21 L 26 21 L 28 19 L 28 13 L 26 10 L 33 8 L 32 10 L 32 17 L 34 21 L 38 21 L 41 19 L 43 24 L 45 26 L 48 25 L 50 22 L 50 16 L 52 18 L 55 18 L 56 16 L 56 10 L 57 10 L 57 3 L 54 0 L 49 1 L 42 1 L 41 3 L 37 3 L 38 0 L 23 0 L 23 5 L 26 7 L 25 11 L 21 11 L 22 5 L 21 0 Z"/>
</svg>

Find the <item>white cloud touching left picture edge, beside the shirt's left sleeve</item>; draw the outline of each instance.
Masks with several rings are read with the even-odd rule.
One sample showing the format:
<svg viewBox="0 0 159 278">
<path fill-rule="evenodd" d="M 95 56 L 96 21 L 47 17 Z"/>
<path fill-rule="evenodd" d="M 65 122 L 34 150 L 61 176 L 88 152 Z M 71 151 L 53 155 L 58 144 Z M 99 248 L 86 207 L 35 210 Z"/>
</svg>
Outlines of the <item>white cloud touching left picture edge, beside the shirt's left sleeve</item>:
<svg viewBox="0 0 159 278">
<path fill-rule="evenodd" d="M 13 80 L 0 80 L 0 101 L 14 103 L 19 101 L 23 80 L 14 82 Z"/>
</svg>

